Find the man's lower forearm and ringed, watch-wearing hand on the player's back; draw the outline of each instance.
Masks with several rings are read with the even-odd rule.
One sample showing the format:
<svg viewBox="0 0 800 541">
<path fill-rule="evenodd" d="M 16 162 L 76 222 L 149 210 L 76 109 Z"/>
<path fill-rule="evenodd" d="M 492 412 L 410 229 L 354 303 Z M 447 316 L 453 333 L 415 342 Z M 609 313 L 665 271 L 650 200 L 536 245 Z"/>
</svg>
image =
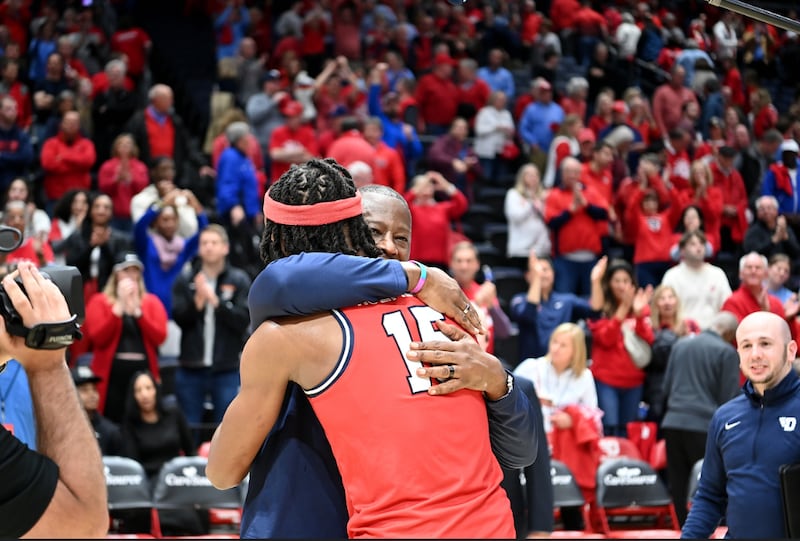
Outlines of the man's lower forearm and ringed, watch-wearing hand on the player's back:
<svg viewBox="0 0 800 541">
<path fill-rule="evenodd" d="M 441 321 L 436 325 L 451 342 L 412 342 L 406 354 L 410 360 L 433 365 L 418 368 L 418 376 L 447 380 L 428 392 L 446 395 L 459 389 L 482 391 L 489 415 L 489 439 L 498 462 L 506 468 L 531 465 L 536 460 L 539 436 L 535 411 L 525 393 L 516 385 L 508 391 L 508 373 L 500 360 L 483 351 L 466 332 Z"/>
</svg>

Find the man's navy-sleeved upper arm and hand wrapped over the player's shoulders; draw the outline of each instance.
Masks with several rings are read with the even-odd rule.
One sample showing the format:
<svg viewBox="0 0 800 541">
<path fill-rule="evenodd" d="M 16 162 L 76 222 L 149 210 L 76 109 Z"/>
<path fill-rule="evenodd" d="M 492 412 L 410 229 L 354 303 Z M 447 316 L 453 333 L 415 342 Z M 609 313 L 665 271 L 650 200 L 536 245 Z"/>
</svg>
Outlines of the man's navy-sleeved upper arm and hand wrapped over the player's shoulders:
<svg viewBox="0 0 800 541">
<path fill-rule="evenodd" d="M 409 261 L 309 252 L 273 261 L 250 288 L 248 304 L 254 325 L 269 318 L 308 315 L 365 301 L 398 297 L 414 290 L 421 268 Z M 346 286 L 346 287 L 343 287 Z M 417 297 L 472 333 L 481 332 L 474 310 L 455 280 L 427 268 Z"/>
</svg>

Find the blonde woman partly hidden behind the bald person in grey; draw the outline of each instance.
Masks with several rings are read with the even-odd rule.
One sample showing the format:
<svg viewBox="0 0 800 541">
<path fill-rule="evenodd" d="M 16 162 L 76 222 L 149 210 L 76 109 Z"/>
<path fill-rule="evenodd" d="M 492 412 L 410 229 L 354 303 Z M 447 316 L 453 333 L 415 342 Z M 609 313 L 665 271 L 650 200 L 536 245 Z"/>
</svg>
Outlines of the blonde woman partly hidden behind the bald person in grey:
<svg viewBox="0 0 800 541">
<path fill-rule="evenodd" d="M 642 400 L 650 407 L 648 421 L 661 424 L 664 415 L 664 374 L 672 346 L 684 336 L 698 334 L 700 325 L 693 319 L 683 317 L 681 300 L 672 286 L 661 284 L 650 299 L 650 323 L 653 328 L 653 355 L 644 372 Z"/>
</svg>

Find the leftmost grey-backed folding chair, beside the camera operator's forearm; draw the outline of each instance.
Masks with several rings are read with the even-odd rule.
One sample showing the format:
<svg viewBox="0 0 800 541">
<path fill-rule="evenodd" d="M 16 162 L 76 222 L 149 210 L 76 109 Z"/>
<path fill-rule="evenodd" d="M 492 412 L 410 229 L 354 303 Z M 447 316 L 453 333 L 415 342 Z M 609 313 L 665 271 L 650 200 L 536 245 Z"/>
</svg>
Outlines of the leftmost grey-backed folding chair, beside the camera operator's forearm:
<svg viewBox="0 0 800 541">
<path fill-rule="evenodd" d="M 111 539 L 153 538 L 153 499 L 144 468 L 132 458 L 104 456 Z"/>
</svg>

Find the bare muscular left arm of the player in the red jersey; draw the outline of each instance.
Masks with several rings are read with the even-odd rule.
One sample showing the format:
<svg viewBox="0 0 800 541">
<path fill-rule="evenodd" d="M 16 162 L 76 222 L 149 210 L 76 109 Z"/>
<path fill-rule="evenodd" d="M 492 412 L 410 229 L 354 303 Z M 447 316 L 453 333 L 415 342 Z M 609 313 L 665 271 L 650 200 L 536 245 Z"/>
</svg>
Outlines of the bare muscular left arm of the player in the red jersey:
<svg viewBox="0 0 800 541">
<path fill-rule="evenodd" d="M 208 479 L 219 489 L 239 484 L 278 417 L 290 380 L 292 347 L 280 326 L 262 323 L 244 346 L 241 389 L 211 439 Z"/>
</svg>

